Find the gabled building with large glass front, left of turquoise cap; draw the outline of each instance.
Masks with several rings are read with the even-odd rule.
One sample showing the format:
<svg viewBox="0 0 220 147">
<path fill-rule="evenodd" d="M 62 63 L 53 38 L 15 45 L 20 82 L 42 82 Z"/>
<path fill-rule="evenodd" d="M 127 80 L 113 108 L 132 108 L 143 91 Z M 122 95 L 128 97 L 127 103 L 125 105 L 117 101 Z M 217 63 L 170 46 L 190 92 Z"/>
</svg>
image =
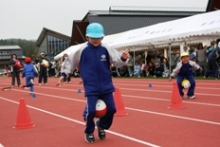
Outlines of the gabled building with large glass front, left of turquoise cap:
<svg viewBox="0 0 220 147">
<path fill-rule="evenodd" d="M 44 52 L 47 57 L 52 57 L 70 46 L 70 37 L 47 28 L 43 28 L 36 41 L 39 53 Z"/>
</svg>

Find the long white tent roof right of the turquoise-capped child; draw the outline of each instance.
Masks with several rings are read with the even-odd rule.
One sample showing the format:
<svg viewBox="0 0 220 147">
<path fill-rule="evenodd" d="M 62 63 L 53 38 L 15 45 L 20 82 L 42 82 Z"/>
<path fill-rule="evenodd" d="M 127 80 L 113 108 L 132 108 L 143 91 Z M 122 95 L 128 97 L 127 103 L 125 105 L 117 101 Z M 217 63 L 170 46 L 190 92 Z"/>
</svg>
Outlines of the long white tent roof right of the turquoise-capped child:
<svg viewBox="0 0 220 147">
<path fill-rule="evenodd" d="M 111 45 L 115 48 L 147 48 L 169 43 L 214 40 L 220 37 L 220 11 L 127 31 Z"/>
</svg>

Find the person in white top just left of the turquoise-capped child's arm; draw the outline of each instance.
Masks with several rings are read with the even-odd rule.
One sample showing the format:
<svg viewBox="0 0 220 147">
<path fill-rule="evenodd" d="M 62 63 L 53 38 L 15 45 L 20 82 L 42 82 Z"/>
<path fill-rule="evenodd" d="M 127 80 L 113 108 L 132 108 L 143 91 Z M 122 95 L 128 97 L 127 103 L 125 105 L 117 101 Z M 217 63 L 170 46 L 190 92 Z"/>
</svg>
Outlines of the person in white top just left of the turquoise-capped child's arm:
<svg viewBox="0 0 220 147">
<path fill-rule="evenodd" d="M 62 59 L 62 64 L 61 64 L 61 69 L 60 69 L 60 73 L 61 73 L 61 77 L 58 81 L 58 83 L 56 84 L 56 86 L 61 86 L 64 82 L 70 82 L 70 73 L 65 73 L 64 70 L 66 68 L 66 65 L 70 64 L 68 55 L 65 53 L 63 55 L 63 59 Z"/>
</svg>

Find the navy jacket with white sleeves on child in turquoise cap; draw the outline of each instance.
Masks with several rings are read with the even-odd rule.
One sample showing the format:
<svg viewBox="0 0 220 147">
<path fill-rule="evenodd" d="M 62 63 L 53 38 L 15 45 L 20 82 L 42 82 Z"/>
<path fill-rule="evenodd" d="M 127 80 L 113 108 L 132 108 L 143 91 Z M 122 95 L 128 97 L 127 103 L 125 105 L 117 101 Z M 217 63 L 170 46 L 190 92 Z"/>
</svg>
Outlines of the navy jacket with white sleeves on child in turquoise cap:
<svg viewBox="0 0 220 147">
<path fill-rule="evenodd" d="M 88 42 L 71 50 L 68 57 L 64 63 L 64 72 L 68 74 L 77 65 L 80 66 L 86 96 L 114 92 L 110 65 L 113 63 L 116 67 L 121 67 L 126 63 L 115 49 L 105 44 L 94 47 Z"/>
</svg>

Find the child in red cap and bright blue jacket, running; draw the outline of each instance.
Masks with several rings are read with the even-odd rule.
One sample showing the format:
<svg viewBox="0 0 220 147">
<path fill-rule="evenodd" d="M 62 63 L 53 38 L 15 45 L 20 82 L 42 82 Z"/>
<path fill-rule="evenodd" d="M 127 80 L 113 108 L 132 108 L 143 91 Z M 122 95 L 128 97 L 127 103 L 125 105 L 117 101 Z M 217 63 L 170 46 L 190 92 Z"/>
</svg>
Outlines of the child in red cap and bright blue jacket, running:
<svg viewBox="0 0 220 147">
<path fill-rule="evenodd" d="M 22 88 L 30 87 L 30 94 L 32 98 L 36 98 L 36 94 L 34 93 L 34 77 L 38 76 L 38 73 L 34 65 L 31 63 L 30 57 L 26 57 L 24 62 L 26 65 L 23 69 L 22 78 L 25 77 L 26 85 L 23 85 Z"/>
</svg>

